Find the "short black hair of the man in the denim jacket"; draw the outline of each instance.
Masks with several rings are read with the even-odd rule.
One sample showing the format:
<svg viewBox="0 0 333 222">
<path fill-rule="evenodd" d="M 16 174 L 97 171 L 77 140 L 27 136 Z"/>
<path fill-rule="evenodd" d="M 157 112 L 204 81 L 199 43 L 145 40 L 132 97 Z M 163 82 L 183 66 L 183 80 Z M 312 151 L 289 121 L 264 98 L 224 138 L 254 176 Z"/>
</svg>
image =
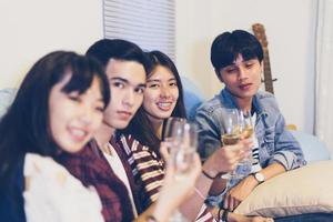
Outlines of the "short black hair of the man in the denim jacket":
<svg viewBox="0 0 333 222">
<path fill-rule="evenodd" d="M 244 60 L 263 60 L 263 50 L 258 39 L 244 31 L 234 30 L 218 36 L 211 47 L 211 62 L 216 71 L 232 64 L 239 54 Z"/>
</svg>

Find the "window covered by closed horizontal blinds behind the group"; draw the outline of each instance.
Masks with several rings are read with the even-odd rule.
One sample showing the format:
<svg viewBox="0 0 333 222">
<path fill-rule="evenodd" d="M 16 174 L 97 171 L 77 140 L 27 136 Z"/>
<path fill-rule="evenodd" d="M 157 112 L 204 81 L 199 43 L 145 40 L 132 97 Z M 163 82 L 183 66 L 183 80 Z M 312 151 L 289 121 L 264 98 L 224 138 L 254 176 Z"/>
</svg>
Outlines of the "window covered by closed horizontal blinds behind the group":
<svg viewBox="0 0 333 222">
<path fill-rule="evenodd" d="M 103 0 L 104 38 L 125 39 L 174 59 L 174 0 Z"/>
</svg>

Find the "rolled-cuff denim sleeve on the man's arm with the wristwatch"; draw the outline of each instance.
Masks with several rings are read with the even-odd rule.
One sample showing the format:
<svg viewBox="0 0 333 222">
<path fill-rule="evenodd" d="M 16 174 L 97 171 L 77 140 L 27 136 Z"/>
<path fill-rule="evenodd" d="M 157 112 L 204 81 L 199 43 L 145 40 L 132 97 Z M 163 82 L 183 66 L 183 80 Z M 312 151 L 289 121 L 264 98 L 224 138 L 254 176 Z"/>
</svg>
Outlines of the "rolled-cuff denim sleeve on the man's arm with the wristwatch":
<svg viewBox="0 0 333 222">
<path fill-rule="evenodd" d="M 275 125 L 275 152 L 269 160 L 269 164 L 281 163 L 286 171 L 306 164 L 300 143 L 291 132 L 285 129 L 284 118 L 280 113 Z"/>
</svg>

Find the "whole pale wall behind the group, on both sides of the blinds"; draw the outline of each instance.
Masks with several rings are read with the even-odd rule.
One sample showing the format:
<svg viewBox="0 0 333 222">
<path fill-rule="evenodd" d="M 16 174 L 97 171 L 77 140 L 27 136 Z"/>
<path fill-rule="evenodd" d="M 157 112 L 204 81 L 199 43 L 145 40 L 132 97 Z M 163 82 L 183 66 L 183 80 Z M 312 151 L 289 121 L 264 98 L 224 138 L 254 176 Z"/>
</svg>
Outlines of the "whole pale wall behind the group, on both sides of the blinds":
<svg viewBox="0 0 333 222">
<path fill-rule="evenodd" d="M 266 27 L 275 94 L 286 121 L 312 132 L 315 0 L 176 0 L 176 64 L 208 98 L 221 88 L 209 60 L 225 30 Z M 18 87 L 41 56 L 84 52 L 102 38 L 101 0 L 1 0 L 0 88 Z"/>
</svg>

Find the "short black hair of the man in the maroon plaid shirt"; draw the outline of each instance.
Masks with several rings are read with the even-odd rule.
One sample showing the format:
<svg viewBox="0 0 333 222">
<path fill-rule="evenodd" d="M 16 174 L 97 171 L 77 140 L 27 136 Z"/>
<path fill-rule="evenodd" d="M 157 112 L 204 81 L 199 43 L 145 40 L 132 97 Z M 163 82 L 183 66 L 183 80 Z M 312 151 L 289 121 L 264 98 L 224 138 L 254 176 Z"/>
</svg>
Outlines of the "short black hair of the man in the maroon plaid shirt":
<svg viewBox="0 0 333 222">
<path fill-rule="evenodd" d="M 150 63 L 142 49 L 133 42 L 123 39 L 101 39 L 94 42 L 85 54 L 98 59 L 105 68 L 110 59 L 122 61 L 135 61 L 149 72 Z"/>
</svg>

